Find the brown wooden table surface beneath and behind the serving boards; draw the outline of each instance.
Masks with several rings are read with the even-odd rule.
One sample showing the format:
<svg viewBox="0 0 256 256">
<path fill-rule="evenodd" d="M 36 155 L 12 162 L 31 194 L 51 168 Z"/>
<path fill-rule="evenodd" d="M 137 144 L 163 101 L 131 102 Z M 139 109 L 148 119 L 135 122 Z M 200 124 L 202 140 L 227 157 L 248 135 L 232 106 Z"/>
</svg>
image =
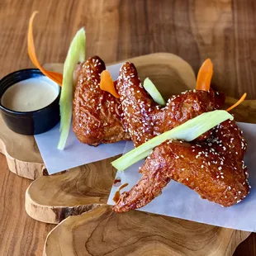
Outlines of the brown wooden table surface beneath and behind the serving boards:
<svg viewBox="0 0 256 256">
<path fill-rule="evenodd" d="M 38 10 L 34 35 L 40 63 L 63 62 L 81 26 L 87 31 L 87 56 L 107 63 L 154 52 L 183 57 L 197 72 L 210 57 L 213 83 L 233 97 L 256 99 L 256 2 L 254 0 L 1 0 L 0 78 L 33 67 L 26 30 Z M 0 154 L 0 255 L 41 255 L 54 225 L 26 216 L 24 196 L 31 181 L 7 169 Z M 256 235 L 235 255 L 256 255 Z"/>
</svg>

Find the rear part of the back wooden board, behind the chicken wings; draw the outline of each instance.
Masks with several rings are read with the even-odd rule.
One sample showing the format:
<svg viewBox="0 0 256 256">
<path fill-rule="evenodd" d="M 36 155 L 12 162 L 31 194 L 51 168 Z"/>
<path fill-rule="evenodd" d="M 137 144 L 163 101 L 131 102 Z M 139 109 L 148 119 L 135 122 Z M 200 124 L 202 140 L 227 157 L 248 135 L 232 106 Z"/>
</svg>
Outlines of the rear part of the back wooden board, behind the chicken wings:
<svg viewBox="0 0 256 256">
<path fill-rule="evenodd" d="M 191 65 L 178 55 L 159 52 L 122 59 L 118 61 L 118 63 L 124 63 L 126 61 L 135 64 L 141 81 L 150 77 L 153 83 L 159 84 L 159 92 L 161 92 L 166 100 L 173 94 L 183 92 L 187 89 L 194 89 L 196 87 L 196 75 Z M 116 62 L 107 65 L 112 64 L 116 64 Z M 44 68 L 62 73 L 64 64 L 44 64 Z"/>
</svg>

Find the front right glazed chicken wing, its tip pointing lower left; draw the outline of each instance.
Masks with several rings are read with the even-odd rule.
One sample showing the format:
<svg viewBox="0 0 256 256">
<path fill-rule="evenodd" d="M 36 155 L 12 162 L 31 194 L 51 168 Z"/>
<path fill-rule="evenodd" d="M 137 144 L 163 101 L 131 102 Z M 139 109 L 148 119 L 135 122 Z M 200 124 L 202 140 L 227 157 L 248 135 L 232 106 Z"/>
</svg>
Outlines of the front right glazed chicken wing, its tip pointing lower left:
<svg viewBox="0 0 256 256">
<path fill-rule="evenodd" d="M 244 166 L 246 143 L 234 121 L 217 126 L 206 141 L 168 140 L 156 147 L 140 168 L 140 182 L 123 192 L 113 210 L 145 206 L 173 179 L 221 206 L 232 206 L 249 193 Z"/>
</svg>

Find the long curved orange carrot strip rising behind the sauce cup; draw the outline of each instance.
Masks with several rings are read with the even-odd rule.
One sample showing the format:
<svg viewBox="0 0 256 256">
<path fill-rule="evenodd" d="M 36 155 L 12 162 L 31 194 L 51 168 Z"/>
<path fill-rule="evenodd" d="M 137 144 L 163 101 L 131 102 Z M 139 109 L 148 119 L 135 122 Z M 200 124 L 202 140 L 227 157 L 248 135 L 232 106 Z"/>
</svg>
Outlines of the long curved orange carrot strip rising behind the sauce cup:
<svg viewBox="0 0 256 256">
<path fill-rule="evenodd" d="M 38 12 L 33 12 L 29 21 L 29 27 L 28 27 L 28 32 L 27 32 L 27 50 L 28 50 L 28 55 L 31 58 L 31 62 L 36 66 L 37 69 L 40 69 L 40 72 L 45 74 L 48 78 L 51 80 L 55 81 L 56 83 L 61 86 L 62 84 L 62 74 L 61 73 L 56 73 L 56 72 L 51 72 L 48 70 L 45 70 L 39 63 L 37 57 L 36 57 L 36 50 L 35 50 L 35 45 L 34 45 L 34 37 L 33 37 L 33 20 Z"/>
</svg>

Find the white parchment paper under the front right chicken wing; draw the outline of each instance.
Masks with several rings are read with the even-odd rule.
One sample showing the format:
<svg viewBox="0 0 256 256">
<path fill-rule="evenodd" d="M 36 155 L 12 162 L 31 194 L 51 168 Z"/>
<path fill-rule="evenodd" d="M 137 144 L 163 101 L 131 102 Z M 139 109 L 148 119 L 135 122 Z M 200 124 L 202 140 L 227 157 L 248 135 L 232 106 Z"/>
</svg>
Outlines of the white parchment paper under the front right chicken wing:
<svg viewBox="0 0 256 256">
<path fill-rule="evenodd" d="M 163 193 L 159 197 L 156 197 L 154 201 L 139 211 L 148 211 L 235 230 L 256 232 L 256 125 L 247 123 L 238 123 L 238 125 L 244 131 L 244 137 L 248 142 L 244 161 L 248 166 L 251 191 L 244 201 L 235 206 L 222 207 L 214 202 L 202 200 L 197 192 L 183 184 L 171 181 L 164 187 Z M 133 143 L 127 142 L 124 153 L 133 148 Z M 116 173 L 116 178 L 121 178 L 122 184 L 129 183 L 121 192 L 128 191 L 140 180 L 141 174 L 138 170 L 143 163 L 144 160 L 141 160 L 127 168 L 125 172 Z M 115 204 L 112 198 L 117 189 L 118 187 L 112 187 L 108 204 Z"/>
</svg>

